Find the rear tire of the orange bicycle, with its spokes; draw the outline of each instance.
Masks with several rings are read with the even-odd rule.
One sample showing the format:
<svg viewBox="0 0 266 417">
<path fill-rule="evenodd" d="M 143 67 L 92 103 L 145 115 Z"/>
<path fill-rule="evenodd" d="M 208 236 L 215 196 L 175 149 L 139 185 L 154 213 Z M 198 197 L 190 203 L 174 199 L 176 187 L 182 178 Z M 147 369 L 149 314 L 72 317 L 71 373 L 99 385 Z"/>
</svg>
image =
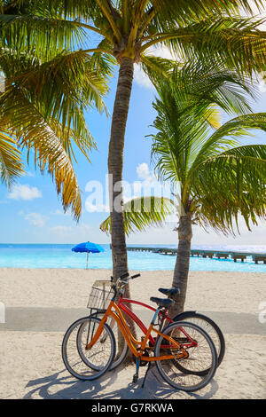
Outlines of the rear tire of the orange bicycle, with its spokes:
<svg viewBox="0 0 266 417">
<path fill-rule="evenodd" d="M 185 330 L 184 330 L 185 327 Z M 201 329 L 199 326 L 195 324 L 186 322 L 186 321 L 177 321 L 175 323 L 170 324 L 168 327 L 165 327 L 163 330 L 163 334 L 171 334 L 173 337 L 173 332 L 183 332 L 184 334 L 189 334 L 193 340 L 197 340 L 197 346 L 191 348 L 185 348 L 189 351 L 189 357 L 185 359 L 175 359 L 176 361 L 180 362 L 187 362 L 190 363 L 190 367 L 196 366 L 198 368 L 196 373 L 190 372 L 189 376 L 188 373 L 183 373 L 179 368 L 175 366 L 173 363 L 173 359 L 162 359 L 156 360 L 156 366 L 159 371 L 160 376 L 164 379 L 164 381 L 168 382 L 170 386 L 175 389 L 180 389 L 186 392 L 193 392 L 199 389 L 204 388 L 214 377 L 216 367 L 217 367 L 217 354 L 215 350 L 215 344 L 212 339 L 209 337 L 207 332 Z M 193 337 L 192 337 L 193 335 Z M 197 336 L 197 339 L 195 339 Z M 165 343 L 166 339 L 164 339 L 163 335 L 160 335 L 156 341 L 155 349 L 154 349 L 154 356 L 160 357 L 162 354 L 165 354 L 166 350 L 169 352 L 168 349 L 171 349 L 173 353 L 173 348 L 166 348 L 166 344 L 162 345 L 162 342 Z M 204 343 L 205 342 L 205 343 Z M 192 350 L 190 350 L 192 349 Z M 204 369 L 208 369 L 207 373 L 200 374 L 200 366 L 201 360 L 197 358 L 197 354 L 200 355 L 200 349 L 202 349 L 203 357 L 207 358 L 207 363 L 209 364 L 208 367 L 204 367 Z M 174 350 L 175 351 L 175 350 Z M 174 370 L 173 369 L 174 366 Z M 205 366 L 205 365 L 204 365 Z M 186 369 L 189 366 L 186 366 Z M 171 370 L 167 374 L 167 369 Z M 192 371 L 192 369 L 191 369 Z M 178 374 L 179 372 L 179 374 Z M 171 378 L 170 376 L 171 375 Z M 188 381 L 186 382 L 185 378 L 188 376 Z M 176 378 L 177 382 L 174 380 Z M 193 379 L 194 378 L 194 379 Z M 192 383 L 192 381 L 195 381 Z"/>
</svg>

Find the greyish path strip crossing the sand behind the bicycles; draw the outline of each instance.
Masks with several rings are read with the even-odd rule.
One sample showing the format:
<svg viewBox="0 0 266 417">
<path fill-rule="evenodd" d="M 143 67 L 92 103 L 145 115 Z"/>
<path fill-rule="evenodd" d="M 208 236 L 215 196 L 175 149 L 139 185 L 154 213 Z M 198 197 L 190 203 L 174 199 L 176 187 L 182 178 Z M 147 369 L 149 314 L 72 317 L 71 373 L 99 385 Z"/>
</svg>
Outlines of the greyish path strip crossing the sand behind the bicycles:
<svg viewBox="0 0 266 417">
<path fill-rule="evenodd" d="M 151 313 L 137 311 L 148 323 Z M 266 335 L 266 324 L 262 324 L 255 314 L 200 311 L 214 319 L 224 334 L 262 334 Z M 88 316 L 87 309 L 10 307 L 5 311 L 5 323 L 0 324 L 0 331 L 24 332 L 65 332 L 74 320 Z"/>
</svg>

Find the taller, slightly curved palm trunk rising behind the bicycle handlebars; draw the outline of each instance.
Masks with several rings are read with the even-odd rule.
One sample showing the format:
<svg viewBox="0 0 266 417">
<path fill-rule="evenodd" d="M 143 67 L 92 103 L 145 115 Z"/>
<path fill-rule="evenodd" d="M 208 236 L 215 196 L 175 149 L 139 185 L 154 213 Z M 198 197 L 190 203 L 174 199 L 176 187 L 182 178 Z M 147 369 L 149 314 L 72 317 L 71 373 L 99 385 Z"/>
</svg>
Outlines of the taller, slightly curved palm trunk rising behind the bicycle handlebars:
<svg viewBox="0 0 266 417">
<path fill-rule="evenodd" d="M 129 99 L 132 90 L 134 60 L 121 58 L 116 96 L 113 106 L 113 120 L 109 143 L 108 170 L 111 215 L 111 236 L 113 256 L 113 278 L 128 272 L 126 234 L 124 228 L 122 200 L 123 150 L 126 124 L 129 114 Z M 129 286 L 124 296 L 130 298 Z M 131 332 L 136 336 L 134 322 L 127 318 Z"/>
</svg>

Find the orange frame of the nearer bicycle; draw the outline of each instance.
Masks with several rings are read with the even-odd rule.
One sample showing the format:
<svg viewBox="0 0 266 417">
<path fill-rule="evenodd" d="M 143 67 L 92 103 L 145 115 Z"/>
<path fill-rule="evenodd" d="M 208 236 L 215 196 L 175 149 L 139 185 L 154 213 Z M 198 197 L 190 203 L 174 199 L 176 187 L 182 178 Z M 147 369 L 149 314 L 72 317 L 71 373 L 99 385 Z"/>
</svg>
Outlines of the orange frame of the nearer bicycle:
<svg viewBox="0 0 266 417">
<path fill-rule="evenodd" d="M 113 309 L 114 309 L 114 311 L 113 311 Z M 184 350 L 184 347 L 181 347 L 180 344 L 178 342 L 176 342 L 173 338 L 168 336 L 168 334 L 163 334 L 159 330 L 154 328 L 155 319 L 156 319 L 157 315 L 159 314 L 160 309 L 158 308 L 157 310 L 154 310 L 154 311 L 155 311 L 155 313 L 154 313 L 154 316 L 153 316 L 153 320 L 152 320 L 149 328 L 146 329 L 144 340 L 137 341 L 135 339 L 135 337 L 133 336 L 133 334 L 130 332 L 129 327 L 128 327 L 128 325 L 127 325 L 127 323 L 126 323 L 126 321 L 123 318 L 123 315 L 121 313 L 121 309 L 112 300 L 110 302 L 107 310 L 106 310 L 106 313 L 105 313 L 103 319 L 101 319 L 101 321 L 99 323 L 99 326 L 98 326 L 98 329 L 97 329 L 96 333 L 94 334 L 94 336 L 92 337 L 92 339 L 88 343 L 88 345 L 86 346 L 86 350 L 90 350 L 90 348 L 98 341 L 98 338 L 100 337 L 100 335 L 102 334 L 102 332 L 104 330 L 104 324 L 106 323 L 106 320 L 108 319 L 108 317 L 111 317 L 116 321 L 118 327 L 121 330 L 121 334 L 123 334 L 126 342 L 129 345 L 129 349 L 131 350 L 133 355 L 137 358 L 140 358 L 140 360 L 144 360 L 144 361 L 147 361 L 147 362 L 152 362 L 152 361 L 156 361 L 156 360 L 187 358 L 188 353 L 186 352 L 186 350 Z M 137 316 L 136 316 L 136 318 L 137 318 Z M 146 328 L 144 325 L 143 325 L 143 327 Z M 164 356 L 160 356 L 160 357 L 143 356 L 143 352 L 145 351 L 145 348 L 146 348 L 146 343 L 149 340 L 149 337 L 151 336 L 152 332 L 155 332 L 156 334 L 159 334 L 160 336 L 163 336 L 164 339 L 168 340 L 168 342 L 170 343 L 170 345 L 167 345 L 167 347 L 168 348 L 176 348 L 177 350 L 179 350 L 179 352 L 176 353 L 176 354 L 164 355 Z M 139 345 L 140 350 L 137 350 L 133 343 Z"/>
</svg>

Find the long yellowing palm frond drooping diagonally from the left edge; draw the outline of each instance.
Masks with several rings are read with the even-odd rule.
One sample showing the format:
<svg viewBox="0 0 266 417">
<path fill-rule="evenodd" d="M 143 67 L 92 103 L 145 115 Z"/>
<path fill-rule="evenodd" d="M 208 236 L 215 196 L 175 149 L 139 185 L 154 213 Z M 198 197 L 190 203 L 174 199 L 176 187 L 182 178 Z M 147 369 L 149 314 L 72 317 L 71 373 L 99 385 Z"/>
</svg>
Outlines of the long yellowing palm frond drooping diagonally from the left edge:
<svg viewBox="0 0 266 417">
<path fill-rule="evenodd" d="M 70 157 L 51 125 L 38 109 L 21 94 L 20 90 L 7 90 L 0 98 L 0 122 L 5 130 L 15 135 L 22 149 L 35 154 L 35 167 L 47 170 L 54 179 L 62 205 L 71 208 L 74 217 L 81 215 L 82 201 L 77 178 Z"/>
</svg>

